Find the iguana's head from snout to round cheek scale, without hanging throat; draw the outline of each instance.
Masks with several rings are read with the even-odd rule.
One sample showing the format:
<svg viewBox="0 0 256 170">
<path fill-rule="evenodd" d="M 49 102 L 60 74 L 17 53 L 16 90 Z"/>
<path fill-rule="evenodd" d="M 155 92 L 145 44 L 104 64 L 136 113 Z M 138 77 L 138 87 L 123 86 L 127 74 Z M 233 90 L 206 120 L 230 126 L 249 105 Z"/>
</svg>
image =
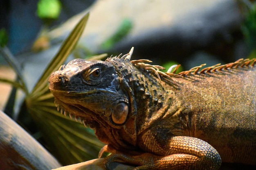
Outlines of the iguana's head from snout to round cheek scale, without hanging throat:
<svg viewBox="0 0 256 170">
<path fill-rule="evenodd" d="M 129 100 L 110 62 L 72 60 L 52 73 L 49 88 L 56 103 L 77 117 L 88 114 L 112 126 L 126 121 Z"/>
</svg>

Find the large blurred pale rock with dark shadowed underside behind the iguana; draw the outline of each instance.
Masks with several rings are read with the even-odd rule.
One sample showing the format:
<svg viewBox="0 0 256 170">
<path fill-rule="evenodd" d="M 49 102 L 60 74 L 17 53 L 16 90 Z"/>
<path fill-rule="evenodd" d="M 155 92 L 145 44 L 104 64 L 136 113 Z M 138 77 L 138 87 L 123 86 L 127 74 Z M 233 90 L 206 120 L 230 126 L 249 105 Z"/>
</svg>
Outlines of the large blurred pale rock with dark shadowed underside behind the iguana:
<svg viewBox="0 0 256 170">
<path fill-rule="evenodd" d="M 135 46 L 134 59 L 150 58 L 157 64 L 176 60 L 184 64 L 196 51 L 216 55 L 218 60 L 232 62 L 246 57 L 243 50 L 236 56 L 243 36 L 240 25 L 243 14 L 234 0 L 104 0 L 90 9 L 90 19 L 80 45 L 91 53 L 126 53 Z M 74 27 L 81 13 L 49 32 L 52 42 L 61 42 Z M 112 49 L 104 51 L 101 44 L 129 18 L 132 30 Z M 207 62 L 207 60 L 202 61 Z"/>
</svg>

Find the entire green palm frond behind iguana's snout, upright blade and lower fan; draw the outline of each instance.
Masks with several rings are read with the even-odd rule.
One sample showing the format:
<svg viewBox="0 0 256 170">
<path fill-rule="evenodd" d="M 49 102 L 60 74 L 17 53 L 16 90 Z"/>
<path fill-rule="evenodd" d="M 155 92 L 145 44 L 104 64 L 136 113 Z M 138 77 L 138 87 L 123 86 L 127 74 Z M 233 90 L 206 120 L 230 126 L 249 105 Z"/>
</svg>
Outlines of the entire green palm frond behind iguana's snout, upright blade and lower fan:
<svg viewBox="0 0 256 170">
<path fill-rule="evenodd" d="M 45 69 L 34 89 L 26 97 L 27 110 L 40 128 L 50 152 L 63 164 L 96 158 L 103 146 L 92 130 L 57 111 L 48 85 L 51 73 L 58 70 L 76 46 L 88 17 L 89 14 L 85 15 L 76 25 Z"/>
</svg>

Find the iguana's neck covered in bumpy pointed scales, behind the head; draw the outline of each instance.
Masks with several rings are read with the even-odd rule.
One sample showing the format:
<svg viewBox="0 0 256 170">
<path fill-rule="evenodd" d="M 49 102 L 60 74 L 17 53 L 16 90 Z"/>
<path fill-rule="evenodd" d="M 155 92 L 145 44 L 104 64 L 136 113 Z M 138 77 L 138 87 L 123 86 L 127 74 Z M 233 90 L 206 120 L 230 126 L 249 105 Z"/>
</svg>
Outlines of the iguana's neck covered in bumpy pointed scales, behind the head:
<svg viewBox="0 0 256 170">
<path fill-rule="evenodd" d="M 130 110 L 136 117 L 137 135 L 161 122 L 160 119 L 177 113 L 181 104 L 175 97 L 175 91 L 179 89 L 177 84 L 167 84 L 155 77 L 151 71 L 137 68 L 130 61 L 120 62 L 113 58 L 109 61 L 120 71 L 121 88 L 130 97 Z"/>
</svg>

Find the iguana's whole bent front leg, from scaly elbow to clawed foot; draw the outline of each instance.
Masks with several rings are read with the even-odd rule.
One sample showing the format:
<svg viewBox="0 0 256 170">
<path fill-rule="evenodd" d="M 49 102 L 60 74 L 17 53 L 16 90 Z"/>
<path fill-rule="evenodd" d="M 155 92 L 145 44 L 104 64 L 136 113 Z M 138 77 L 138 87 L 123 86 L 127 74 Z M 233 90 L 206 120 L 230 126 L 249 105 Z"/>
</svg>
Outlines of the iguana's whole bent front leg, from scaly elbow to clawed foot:
<svg viewBox="0 0 256 170">
<path fill-rule="evenodd" d="M 105 160 L 107 169 L 112 161 L 121 160 L 138 165 L 134 170 L 218 170 L 220 155 L 207 142 L 185 136 L 174 136 L 165 141 L 148 136 L 143 141 L 147 151 L 141 155 L 112 154 Z M 167 156 L 164 156 L 167 155 Z"/>
</svg>

